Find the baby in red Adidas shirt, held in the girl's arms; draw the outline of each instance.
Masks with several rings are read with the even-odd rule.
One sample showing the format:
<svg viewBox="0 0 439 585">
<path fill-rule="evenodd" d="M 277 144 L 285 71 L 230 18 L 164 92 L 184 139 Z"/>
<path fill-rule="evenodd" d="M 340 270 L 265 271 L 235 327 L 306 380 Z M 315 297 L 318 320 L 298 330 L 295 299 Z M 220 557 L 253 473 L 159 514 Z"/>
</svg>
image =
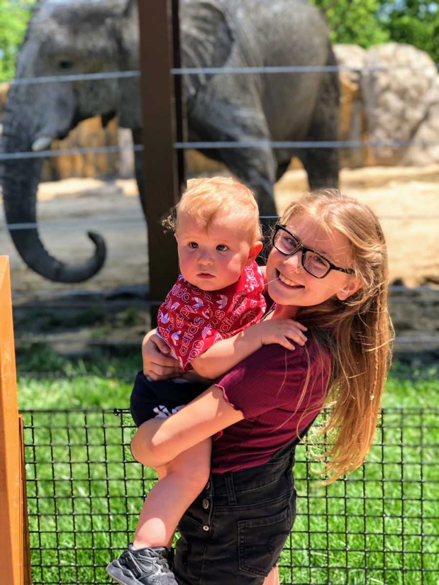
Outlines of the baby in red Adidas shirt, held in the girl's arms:
<svg viewBox="0 0 439 585">
<path fill-rule="evenodd" d="M 222 177 L 190 180 L 187 187 L 175 219 L 168 219 L 181 274 L 159 309 L 156 330 L 179 360 L 182 376 L 153 381 L 138 373 L 131 396 L 137 426 L 174 414 L 213 378 L 255 351 L 239 332 L 258 324 L 266 309 L 264 275 L 255 262 L 262 233 L 252 192 Z M 211 442 L 207 439 L 157 469 L 159 481 L 145 500 L 133 545 L 107 567 L 119 583 L 162 583 L 158 573 L 167 567 L 177 524 L 208 481 Z M 119 561 L 136 566 L 138 577 L 125 578 Z M 145 563 L 149 573 L 140 570 Z M 172 575 L 167 580 L 163 574 L 163 579 L 176 582 Z"/>
</svg>

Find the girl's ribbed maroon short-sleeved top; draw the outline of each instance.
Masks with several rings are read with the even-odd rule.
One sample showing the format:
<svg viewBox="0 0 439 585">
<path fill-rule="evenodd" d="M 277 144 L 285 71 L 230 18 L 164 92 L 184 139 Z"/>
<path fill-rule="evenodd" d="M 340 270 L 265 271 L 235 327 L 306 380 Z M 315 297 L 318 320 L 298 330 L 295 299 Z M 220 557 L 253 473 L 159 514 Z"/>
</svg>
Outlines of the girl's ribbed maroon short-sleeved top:
<svg viewBox="0 0 439 585">
<path fill-rule="evenodd" d="M 331 357 L 328 349 L 313 340 L 308 340 L 306 347 L 310 377 L 299 407 L 308 370 L 301 346 L 290 351 L 278 344 L 265 345 L 215 383 L 225 400 L 245 418 L 225 428 L 212 443 L 212 472 L 267 463 L 278 449 L 297 437 L 297 424 L 304 412 L 299 431 L 317 416 L 327 391 Z"/>
</svg>

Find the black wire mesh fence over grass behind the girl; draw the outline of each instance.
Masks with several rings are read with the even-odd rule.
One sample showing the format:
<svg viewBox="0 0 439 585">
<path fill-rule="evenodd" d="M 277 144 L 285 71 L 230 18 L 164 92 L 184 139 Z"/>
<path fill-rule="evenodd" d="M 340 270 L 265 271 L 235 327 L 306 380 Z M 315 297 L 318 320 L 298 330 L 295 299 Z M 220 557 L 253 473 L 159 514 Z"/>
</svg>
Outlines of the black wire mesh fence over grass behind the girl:
<svg viewBox="0 0 439 585">
<path fill-rule="evenodd" d="M 383 409 L 366 463 L 328 487 L 310 444 L 297 448 L 297 519 L 279 562 L 282 583 L 437 584 L 438 414 Z M 129 412 L 23 415 L 34 585 L 109 582 L 104 567 L 131 542 L 155 479 L 131 456 Z"/>
</svg>

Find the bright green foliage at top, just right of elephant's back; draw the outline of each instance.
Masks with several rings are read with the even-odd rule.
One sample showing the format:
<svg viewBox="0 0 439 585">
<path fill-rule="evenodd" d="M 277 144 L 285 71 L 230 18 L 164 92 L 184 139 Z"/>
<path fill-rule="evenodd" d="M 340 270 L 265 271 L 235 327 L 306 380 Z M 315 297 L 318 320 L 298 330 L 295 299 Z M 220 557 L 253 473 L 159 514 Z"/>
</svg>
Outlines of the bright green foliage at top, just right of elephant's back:
<svg viewBox="0 0 439 585">
<path fill-rule="evenodd" d="M 311 0 L 325 15 L 334 43 L 354 43 L 361 47 L 385 43 L 390 37 L 377 15 L 383 0 Z"/>
</svg>

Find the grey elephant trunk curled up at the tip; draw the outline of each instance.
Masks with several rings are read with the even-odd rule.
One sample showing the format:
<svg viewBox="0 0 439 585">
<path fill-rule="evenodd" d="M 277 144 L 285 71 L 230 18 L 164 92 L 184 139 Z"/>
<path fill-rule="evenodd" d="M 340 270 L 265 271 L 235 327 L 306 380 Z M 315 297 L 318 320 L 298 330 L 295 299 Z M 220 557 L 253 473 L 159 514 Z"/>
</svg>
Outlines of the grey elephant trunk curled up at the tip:
<svg viewBox="0 0 439 585">
<path fill-rule="evenodd" d="M 20 116 L 6 111 L 0 151 L 5 154 L 30 150 L 32 139 Z M 44 278 L 58 283 L 80 283 L 101 270 L 105 261 L 105 242 L 97 233 L 88 232 L 95 245 L 94 254 L 84 263 L 63 263 L 44 249 L 36 226 L 36 192 L 42 171 L 42 159 L 16 159 L 2 161 L 0 181 L 3 189 L 5 216 L 18 253 L 29 268 Z M 32 226 L 25 229 L 26 223 Z"/>
</svg>

